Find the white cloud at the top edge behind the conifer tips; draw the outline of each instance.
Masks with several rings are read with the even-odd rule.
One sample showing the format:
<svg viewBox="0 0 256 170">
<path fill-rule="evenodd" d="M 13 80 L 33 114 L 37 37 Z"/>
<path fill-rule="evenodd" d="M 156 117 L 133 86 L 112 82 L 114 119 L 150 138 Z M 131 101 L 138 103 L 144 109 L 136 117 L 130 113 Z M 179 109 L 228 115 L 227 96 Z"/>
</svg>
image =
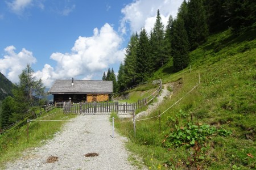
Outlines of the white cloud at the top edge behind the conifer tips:
<svg viewBox="0 0 256 170">
<path fill-rule="evenodd" d="M 137 0 L 122 8 L 122 14 L 119 31 L 123 34 L 127 32 L 139 32 L 145 27 L 147 32 L 154 27 L 157 10 L 160 11 L 162 22 L 167 24 L 170 15 L 173 17 L 177 14 L 183 0 Z"/>
</svg>

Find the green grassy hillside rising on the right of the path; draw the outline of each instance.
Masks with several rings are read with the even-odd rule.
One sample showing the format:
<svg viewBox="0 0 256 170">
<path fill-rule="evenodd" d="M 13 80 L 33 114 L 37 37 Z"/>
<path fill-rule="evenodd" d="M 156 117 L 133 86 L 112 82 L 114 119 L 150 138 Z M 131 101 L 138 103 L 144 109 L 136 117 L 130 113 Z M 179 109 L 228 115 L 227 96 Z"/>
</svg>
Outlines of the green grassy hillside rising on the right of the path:
<svg viewBox="0 0 256 170">
<path fill-rule="evenodd" d="M 256 168 L 256 31 L 233 36 L 217 33 L 192 51 L 189 68 L 172 74 L 172 61 L 152 79 L 181 80 L 171 99 L 133 124 L 117 129 L 131 139 L 129 149 L 151 169 Z M 196 84 L 200 84 L 189 92 Z M 189 93 L 188 93 L 189 92 Z M 181 97 L 183 97 L 181 99 Z M 180 100 L 181 99 L 181 100 Z M 159 111 L 158 111 L 159 110 Z M 135 164 L 136 157 L 131 156 Z"/>
</svg>

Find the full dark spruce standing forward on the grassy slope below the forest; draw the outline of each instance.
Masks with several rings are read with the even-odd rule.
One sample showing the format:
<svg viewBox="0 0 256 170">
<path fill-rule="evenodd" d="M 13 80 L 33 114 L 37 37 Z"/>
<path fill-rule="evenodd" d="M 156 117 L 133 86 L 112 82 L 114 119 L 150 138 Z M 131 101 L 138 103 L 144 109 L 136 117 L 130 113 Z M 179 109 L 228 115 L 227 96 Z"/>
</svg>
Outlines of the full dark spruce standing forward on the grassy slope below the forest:
<svg viewBox="0 0 256 170">
<path fill-rule="evenodd" d="M 174 71 L 185 69 L 189 63 L 188 56 L 188 36 L 185 30 L 184 21 L 179 15 L 174 20 L 172 37 L 172 57 L 174 61 Z"/>
</svg>

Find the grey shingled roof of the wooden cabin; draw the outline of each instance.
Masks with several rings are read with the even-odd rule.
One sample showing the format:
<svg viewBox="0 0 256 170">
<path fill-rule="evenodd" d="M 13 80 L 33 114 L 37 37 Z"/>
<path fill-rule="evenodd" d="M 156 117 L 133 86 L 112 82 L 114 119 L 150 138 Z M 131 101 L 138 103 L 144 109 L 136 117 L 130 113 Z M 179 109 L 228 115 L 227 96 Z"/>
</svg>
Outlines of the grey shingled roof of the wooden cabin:
<svg viewBox="0 0 256 170">
<path fill-rule="evenodd" d="M 113 82 L 102 80 L 56 80 L 48 94 L 112 94 Z"/>
</svg>

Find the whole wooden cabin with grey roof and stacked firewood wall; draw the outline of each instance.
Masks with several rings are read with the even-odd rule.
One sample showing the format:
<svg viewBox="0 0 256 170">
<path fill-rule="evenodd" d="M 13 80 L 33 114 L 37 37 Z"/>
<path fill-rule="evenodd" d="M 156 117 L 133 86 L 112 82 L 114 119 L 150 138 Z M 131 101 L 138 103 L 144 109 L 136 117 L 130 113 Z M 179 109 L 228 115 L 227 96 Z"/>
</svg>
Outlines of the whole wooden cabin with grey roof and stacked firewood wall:
<svg viewBox="0 0 256 170">
<path fill-rule="evenodd" d="M 108 101 L 113 94 L 113 82 L 102 80 L 56 80 L 48 94 L 53 102 L 72 101 L 73 103 Z"/>
</svg>

